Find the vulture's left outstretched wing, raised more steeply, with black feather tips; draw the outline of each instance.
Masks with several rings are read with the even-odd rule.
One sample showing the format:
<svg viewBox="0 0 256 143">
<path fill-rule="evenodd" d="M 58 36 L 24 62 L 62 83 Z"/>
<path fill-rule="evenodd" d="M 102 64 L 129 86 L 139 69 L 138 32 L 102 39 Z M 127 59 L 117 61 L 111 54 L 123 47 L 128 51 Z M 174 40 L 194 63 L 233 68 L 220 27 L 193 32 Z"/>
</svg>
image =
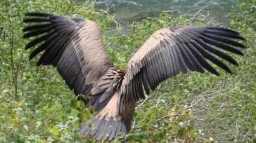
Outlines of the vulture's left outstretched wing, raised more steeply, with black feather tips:
<svg viewBox="0 0 256 143">
<path fill-rule="evenodd" d="M 91 96 L 94 83 L 113 67 L 98 25 L 82 18 L 48 13 L 27 13 L 26 16 L 24 22 L 34 24 L 23 29 L 27 32 L 24 38 L 37 36 L 26 49 L 39 45 L 30 59 L 42 52 L 37 65 L 57 67 L 76 95 Z"/>
</svg>

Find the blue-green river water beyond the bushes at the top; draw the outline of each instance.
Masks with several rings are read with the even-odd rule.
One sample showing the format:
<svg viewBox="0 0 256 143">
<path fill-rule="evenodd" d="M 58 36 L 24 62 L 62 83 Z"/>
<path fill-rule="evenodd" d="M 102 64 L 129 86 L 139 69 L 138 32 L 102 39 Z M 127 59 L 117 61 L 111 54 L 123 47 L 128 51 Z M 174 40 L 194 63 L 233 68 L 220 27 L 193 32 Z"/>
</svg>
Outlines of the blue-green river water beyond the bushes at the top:
<svg viewBox="0 0 256 143">
<path fill-rule="evenodd" d="M 201 1 L 201 2 L 200 2 Z M 101 6 L 108 5 L 115 18 L 123 21 L 141 20 L 148 16 L 156 17 L 162 11 L 172 11 L 174 15 L 181 15 L 194 8 L 203 8 L 212 0 L 104 0 Z M 239 0 L 214 0 L 212 4 L 198 13 L 197 20 L 214 20 L 215 22 L 228 22 L 227 13 L 231 11 Z M 197 13 L 191 11 L 188 15 Z M 205 18 L 209 13 L 210 15 Z"/>
</svg>

